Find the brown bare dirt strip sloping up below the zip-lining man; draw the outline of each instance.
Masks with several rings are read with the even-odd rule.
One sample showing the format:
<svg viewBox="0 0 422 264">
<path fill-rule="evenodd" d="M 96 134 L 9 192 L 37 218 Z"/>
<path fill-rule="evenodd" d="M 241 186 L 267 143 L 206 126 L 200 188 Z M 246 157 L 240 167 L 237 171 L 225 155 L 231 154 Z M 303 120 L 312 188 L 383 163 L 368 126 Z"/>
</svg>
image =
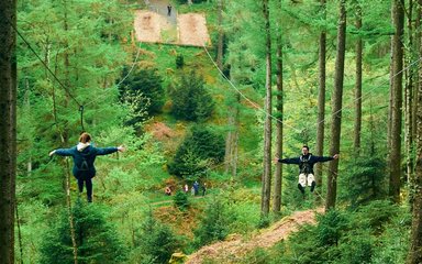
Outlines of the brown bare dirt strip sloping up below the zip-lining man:
<svg viewBox="0 0 422 264">
<path fill-rule="evenodd" d="M 235 263 L 236 258 L 252 252 L 256 248 L 270 248 L 277 242 L 285 240 L 290 233 L 296 232 L 299 226 L 315 223 L 315 212 L 322 213 L 323 210 L 323 208 L 318 208 L 315 210 L 297 211 L 270 228 L 262 230 L 248 241 L 244 241 L 242 238 L 234 238 L 231 241 L 222 241 L 204 246 L 195 254 L 189 255 L 185 263 L 200 264 L 206 258 L 216 261 L 216 263 Z"/>
</svg>

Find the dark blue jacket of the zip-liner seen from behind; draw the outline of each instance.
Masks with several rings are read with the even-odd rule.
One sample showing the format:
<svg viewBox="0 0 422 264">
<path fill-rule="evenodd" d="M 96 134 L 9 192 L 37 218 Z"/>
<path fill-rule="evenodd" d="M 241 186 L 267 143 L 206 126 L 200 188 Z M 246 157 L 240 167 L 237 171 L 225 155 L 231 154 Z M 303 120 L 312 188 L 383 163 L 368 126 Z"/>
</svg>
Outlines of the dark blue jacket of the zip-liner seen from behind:
<svg viewBox="0 0 422 264">
<path fill-rule="evenodd" d="M 76 146 L 70 148 L 58 148 L 55 154 L 59 156 L 71 156 L 74 157 L 74 168 L 73 173 L 75 177 L 87 176 L 92 178 L 96 176 L 96 167 L 93 166 L 93 162 L 97 156 L 108 155 L 111 153 L 118 152 L 118 147 L 95 147 L 87 146 L 82 151 L 78 151 Z M 81 169 L 81 165 L 86 161 L 88 164 L 87 169 Z"/>
</svg>

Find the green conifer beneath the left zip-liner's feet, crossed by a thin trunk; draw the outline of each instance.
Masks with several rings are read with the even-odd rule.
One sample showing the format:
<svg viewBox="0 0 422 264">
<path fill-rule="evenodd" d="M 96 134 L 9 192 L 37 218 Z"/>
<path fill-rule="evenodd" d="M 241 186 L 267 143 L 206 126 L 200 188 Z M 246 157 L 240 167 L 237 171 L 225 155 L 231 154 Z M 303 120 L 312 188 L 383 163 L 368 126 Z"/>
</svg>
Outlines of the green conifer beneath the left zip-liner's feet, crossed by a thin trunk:
<svg viewBox="0 0 422 264">
<path fill-rule="evenodd" d="M 107 222 L 104 209 L 78 199 L 71 213 L 78 263 L 118 263 L 126 260 L 125 248 L 115 228 Z M 44 237 L 41 252 L 41 263 L 74 263 L 67 211 L 63 210 L 57 223 Z"/>
</svg>

